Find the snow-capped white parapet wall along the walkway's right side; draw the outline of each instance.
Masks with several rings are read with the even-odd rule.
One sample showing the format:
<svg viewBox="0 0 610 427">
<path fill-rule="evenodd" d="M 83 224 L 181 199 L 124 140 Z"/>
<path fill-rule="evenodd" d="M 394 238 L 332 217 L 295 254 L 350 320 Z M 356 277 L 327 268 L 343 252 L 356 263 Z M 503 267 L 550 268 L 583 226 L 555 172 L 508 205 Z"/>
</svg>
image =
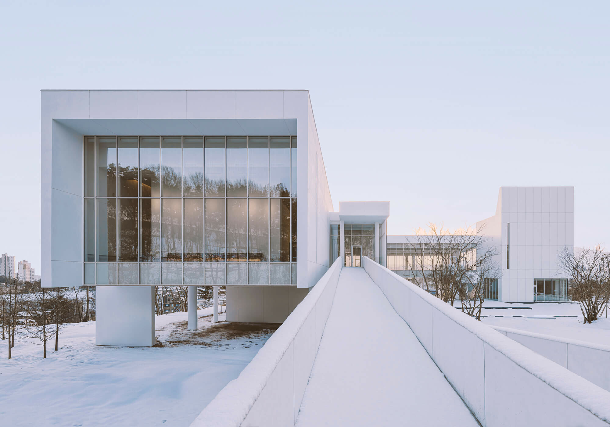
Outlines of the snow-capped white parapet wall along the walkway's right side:
<svg viewBox="0 0 610 427">
<path fill-rule="evenodd" d="M 484 427 L 610 425 L 610 392 L 367 257 L 362 265 Z"/>
</svg>

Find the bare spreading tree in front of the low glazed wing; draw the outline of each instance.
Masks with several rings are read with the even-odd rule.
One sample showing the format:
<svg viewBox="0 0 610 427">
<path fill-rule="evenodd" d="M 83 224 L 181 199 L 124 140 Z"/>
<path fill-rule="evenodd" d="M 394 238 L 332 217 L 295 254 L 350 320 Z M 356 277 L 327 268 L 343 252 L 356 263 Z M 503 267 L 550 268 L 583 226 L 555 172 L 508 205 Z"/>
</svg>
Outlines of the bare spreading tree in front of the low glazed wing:
<svg viewBox="0 0 610 427">
<path fill-rule="evenodd" d="M 499 274 L 497 248 L 483 234 L 484 224 L 452 232 L 430 223 L 428 229 L 418 229 L 407 242 L 405 268 L 412 281 L 452 306 L 460 298 L 462 310 L 480 319 L 490 280 Z"/>
</svg>

